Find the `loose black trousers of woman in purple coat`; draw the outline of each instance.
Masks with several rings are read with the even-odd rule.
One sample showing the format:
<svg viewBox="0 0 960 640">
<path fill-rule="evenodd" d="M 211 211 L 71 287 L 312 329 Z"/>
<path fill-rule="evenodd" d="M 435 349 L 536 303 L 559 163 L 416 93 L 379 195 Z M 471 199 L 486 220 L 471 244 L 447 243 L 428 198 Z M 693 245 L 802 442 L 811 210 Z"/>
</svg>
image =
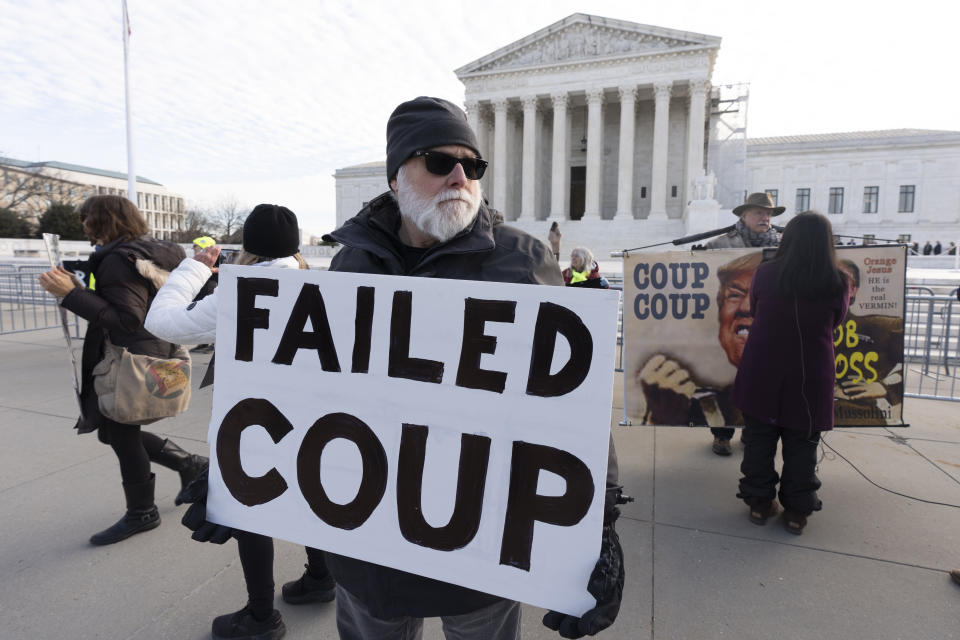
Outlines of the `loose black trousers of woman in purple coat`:
<svg viewBox="0 0 960 640">
<path fill-rule="evenodd" d="M 785 429 L 775 424 L 755 420 L 744 416 L 743 462 L 740 464 L 740 492 L 750 506 L 772 500 L 780 483 L 779 498 L 784 509 L 810 515 L 820 510 L 817 489 L 817 445 L 820 434 L 808 434 L 798 429 Z M 777 475 L 774 461 L 777 455 L 777 442 L 781 443 L 783 471 Z"/>
</svg>

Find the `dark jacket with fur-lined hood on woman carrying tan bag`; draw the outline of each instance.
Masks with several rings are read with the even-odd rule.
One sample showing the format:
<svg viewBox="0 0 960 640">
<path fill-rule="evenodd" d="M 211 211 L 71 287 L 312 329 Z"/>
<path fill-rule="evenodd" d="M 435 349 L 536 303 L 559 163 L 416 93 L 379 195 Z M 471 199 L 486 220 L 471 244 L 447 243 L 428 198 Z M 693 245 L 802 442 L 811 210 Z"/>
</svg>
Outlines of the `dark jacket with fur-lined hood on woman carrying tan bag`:
<svg viewBox="0 0 960 640">
<path fill-rule="evenodd" d="M 133 242 L 115 240 L 95 251 L 87 270 L 96 288 L 74 289 L 60 302 L 88 322 L 80 365 L 80 399 L 83 415 L 80 433 L 95 430 L 103 416 L 93 391 L 94 366 L 103 359 L 104 332 L 110 341 L 131 353 L 169 358 L 177 345 L 160 340 L 143 328 L 147 309 L 170 271 L 186 257 L 172 242 L 144 237 Z"/>
</svg>

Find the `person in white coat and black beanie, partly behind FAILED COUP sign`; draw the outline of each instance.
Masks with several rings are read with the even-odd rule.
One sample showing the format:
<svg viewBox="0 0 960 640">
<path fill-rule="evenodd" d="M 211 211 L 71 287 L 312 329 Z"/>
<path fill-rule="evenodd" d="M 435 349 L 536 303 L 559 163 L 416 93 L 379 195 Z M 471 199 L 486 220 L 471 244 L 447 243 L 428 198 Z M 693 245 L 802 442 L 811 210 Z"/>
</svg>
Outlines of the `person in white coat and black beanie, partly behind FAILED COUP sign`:
<svg viewBox="0 0 960 640">
<path fill-rule="evenodd" d="M 232 264 L 306 269 L 300 256 L 300 230 L 297 216 L 275 204 L 254 207 L 243 223 L 243 250 Z M 212 246 L 183 260 L 157 293 L 146 327 L 154 335 L 185 343 L 214 343 L 217 337 L 217 299 L 219 289 L 195 300 L 216 271 L 220 247 Z M 214 354 L 216 357 L 216 354 Z M 209 374 L 208 374 L 209 376 Z M 204 378 L 206 384 L 207 377 Z M 192 487 L 188 502 L 194 502 L 184 515 L 183 524 L 194 531 L 201 542 L 224 543 L 237 539 L 240 565 L 247 585 L 247 605 L 234 613 L 213 620 L 214 640 L 276 640 L 286 632 L 280 612 L 273 608 L 273 539 L 249 531 L 228 529 L 206 521 L 206 479 Z M 327 570 L 323 551 L 307 547 L 303 575 L 283 585 L 283 600 L 288 604 L 330 602 L 336 583 Z"/>
</svg>

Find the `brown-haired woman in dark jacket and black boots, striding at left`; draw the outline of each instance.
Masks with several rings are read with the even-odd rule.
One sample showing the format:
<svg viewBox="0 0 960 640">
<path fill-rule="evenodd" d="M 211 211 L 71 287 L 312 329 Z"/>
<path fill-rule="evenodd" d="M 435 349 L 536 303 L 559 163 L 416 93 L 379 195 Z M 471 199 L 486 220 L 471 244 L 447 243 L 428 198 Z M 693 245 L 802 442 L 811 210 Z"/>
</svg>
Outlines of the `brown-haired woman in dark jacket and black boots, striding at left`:
<svg viewBox="0 0 960 640">
<path fill-rule="evenodd" d="M 91 544 L 106 545 L 159 526 L 151 462 L 180 474 L 181 493 L 175 500 L 180 504 L 183 487 L 207 468 L 207 459 L 142 430 L 140 424 L 108 418 L 101 410 L 100 396 L 105 393 L 101 390 L 98 394 L 94 386 L 94 369 L 98 365 L 100 370 L 105 368 L 105 356 L 125 350 L 133 358 L 143 355 L 170 359 L 181 353 L 179 345 L 147 332 L 143 320 L 157 289 L 183 258 L 183 249 L 149 237 L 146 221 L 126 198 L 92 196 L 80 205 L 79 214 L 84 234 L 97 245 L 88 263 L 89 272 L 96 278 L 96 290 L 84 288 L 63 267 L 41 274 L 40 285 L 60 298 L 63 308 L 88 322 L 81 360 L 82 414 L 76 429 L 79 433 L 97 431 L 100 441 L 113 448 L 120 463 L 127 503 L 126 513 L 116 524 L 90 538 Z M 167 377 L 154 381 L 162 394 L 169 392 L 173 397 L 178 392 L 189 393 L 189 367 L 171 367 L 163 372 Z M 120 382 L 123 381 L 115 379 L 116 384 Z M 121 392 L 118 386 L 111 390 L 111 396 Z M 124 400 L 112 399 L 118 404 Z"/>
</svg>

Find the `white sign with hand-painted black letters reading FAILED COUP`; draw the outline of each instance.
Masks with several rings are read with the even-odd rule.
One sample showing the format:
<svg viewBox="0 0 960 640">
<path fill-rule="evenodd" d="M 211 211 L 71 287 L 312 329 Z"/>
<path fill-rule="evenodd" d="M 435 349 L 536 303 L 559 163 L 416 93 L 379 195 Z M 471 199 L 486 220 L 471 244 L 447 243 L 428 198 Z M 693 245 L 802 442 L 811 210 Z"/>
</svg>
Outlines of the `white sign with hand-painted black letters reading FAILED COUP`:
<svg viewBox="0 0 960 640">
<path fill-rule="evenodd" d="M 618 296 L 224 267 L 208 517 L 582 614 Z"/>
</svg>

